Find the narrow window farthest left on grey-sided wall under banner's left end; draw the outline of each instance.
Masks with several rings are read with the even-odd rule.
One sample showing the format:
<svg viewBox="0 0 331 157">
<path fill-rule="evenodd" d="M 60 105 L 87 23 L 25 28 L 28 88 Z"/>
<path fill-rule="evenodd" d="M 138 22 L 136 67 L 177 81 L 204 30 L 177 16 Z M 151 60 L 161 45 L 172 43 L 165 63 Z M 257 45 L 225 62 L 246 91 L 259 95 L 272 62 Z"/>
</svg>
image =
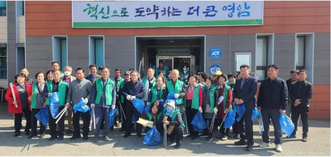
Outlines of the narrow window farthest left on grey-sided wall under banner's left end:
<svg viewBox="0 0 331 157">
<path fill-rule="evenodd" d="M 60 64 L 60 68 L 68 65 L 67 36 L 53 36 L 53 61 Z"/>
</svg>

